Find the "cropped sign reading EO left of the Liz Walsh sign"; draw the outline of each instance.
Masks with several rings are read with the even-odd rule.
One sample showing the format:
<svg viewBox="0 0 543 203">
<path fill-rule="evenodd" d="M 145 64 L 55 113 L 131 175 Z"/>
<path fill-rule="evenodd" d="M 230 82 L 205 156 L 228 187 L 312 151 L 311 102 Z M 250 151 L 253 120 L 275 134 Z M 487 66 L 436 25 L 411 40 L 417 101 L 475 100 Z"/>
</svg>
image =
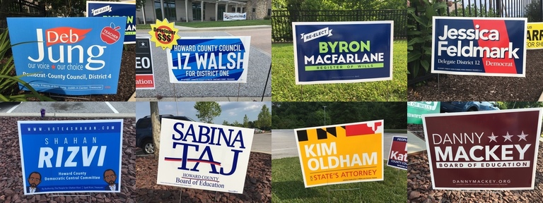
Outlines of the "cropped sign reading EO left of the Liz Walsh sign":
<svg viewBox="0 0 543 203">
<path fill-rule="evenodd" d="M 136 90 L 155 89 L 153 53 L 149 38 L 136 38 Z"/>
</svg>

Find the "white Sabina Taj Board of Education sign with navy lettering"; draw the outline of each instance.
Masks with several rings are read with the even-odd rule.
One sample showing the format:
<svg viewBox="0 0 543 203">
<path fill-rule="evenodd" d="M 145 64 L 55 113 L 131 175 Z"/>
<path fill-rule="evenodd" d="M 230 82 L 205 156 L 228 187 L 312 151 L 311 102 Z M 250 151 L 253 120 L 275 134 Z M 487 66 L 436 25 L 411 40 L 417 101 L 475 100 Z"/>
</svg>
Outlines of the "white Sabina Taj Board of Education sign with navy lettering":
<svg viewBox="0 0 543 203">
<path fill-rule="evenodd" d="M 243 193 L 254 130 L 162 119 L 159 185 Z"/>
</svg>

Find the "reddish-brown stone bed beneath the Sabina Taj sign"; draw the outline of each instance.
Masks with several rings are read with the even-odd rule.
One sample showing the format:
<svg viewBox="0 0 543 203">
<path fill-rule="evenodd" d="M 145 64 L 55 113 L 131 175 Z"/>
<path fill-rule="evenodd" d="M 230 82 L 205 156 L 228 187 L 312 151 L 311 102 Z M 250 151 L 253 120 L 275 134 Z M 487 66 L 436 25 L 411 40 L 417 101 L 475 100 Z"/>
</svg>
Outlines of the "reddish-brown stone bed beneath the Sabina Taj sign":
<svg viewBox="0 0 543 203">
<path fill-rule="evenodd" d="M 157 185 L 157 170 L 153 156 L 136 158 L 138 202 L 271 202 L 270 154 L 251 152 L 243 194 Z"/>
</svg>

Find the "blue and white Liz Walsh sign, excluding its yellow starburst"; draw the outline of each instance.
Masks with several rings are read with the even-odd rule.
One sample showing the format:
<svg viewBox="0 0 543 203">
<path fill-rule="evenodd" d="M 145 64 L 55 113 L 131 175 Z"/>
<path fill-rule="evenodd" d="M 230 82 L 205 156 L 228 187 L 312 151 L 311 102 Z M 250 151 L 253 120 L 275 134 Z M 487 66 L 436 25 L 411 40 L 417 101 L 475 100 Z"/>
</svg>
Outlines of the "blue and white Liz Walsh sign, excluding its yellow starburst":
<svg viewBox="0 0 543 203">
<path fill-rule="evenodd" d="M 247 82 L 251 37 L 183 37 L 168 50 L 172 83 Z"/>
</svg>

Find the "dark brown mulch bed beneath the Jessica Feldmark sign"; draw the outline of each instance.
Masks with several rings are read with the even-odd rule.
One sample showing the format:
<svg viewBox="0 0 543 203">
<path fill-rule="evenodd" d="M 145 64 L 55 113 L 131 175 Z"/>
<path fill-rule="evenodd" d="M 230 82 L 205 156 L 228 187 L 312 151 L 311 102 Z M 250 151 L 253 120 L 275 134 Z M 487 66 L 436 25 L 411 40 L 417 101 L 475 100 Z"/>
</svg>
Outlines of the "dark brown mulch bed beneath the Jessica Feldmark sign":
<svg viewBox="0 0 543 203">
<path fill-rule="evenodd" d="M 543 92 L 543 49 L 526 51 L 526 78 L 439 74 L 408 87 L 407 101 L 537 101 Z"/>
</svg>

